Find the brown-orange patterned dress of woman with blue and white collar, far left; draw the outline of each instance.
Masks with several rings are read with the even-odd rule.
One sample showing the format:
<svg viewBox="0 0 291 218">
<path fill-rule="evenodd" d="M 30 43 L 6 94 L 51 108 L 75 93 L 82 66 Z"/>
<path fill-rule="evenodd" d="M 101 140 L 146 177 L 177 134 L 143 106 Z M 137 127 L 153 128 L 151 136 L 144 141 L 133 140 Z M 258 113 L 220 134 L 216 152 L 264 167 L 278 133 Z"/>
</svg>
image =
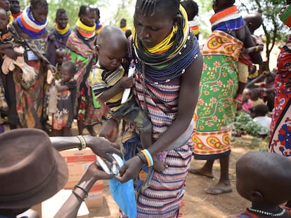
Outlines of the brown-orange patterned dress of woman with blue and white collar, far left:
<svg viewBox="0 0 291 218">
<path fill-rule="evenodd" d="M 42 128 L 44 118 L 44 86 L 46 81 L 46 64 L 48 60 L 44 57 L 46 49 L 47 32 L 38 38 L 28 36 L 20 30 L 18 22 L 11 23 L 14 39 L 25 39 L 30 46 L 30 57 L 27 64 L 33 67 L 31 74 L 36 76 L 30 81 L 22 80 L 22 69 L 15 67 L 13 70 L 13 81 L 15 83 L 15 104 L 19 121 L 23 128 Z M 16 43 L 21 43 L 16 41 Z"/>
</svg>

